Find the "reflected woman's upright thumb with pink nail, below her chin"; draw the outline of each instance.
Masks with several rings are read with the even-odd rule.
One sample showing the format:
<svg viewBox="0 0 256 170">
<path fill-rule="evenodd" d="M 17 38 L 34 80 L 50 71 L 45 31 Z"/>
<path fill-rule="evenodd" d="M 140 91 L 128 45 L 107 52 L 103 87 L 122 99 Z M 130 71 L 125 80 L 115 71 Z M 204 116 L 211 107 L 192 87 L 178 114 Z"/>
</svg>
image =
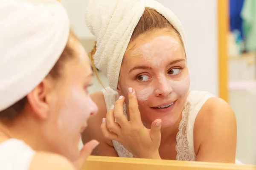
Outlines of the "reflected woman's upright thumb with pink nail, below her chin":
<svg viewBox="0 0 256 170">
<path fill-rule="evenodd" d="M 161 141 L 161 125 L 162 125 L 162 120 L 161 119 L 156 119 L 154 122 L 151 124 L 151 130 L 150 130 L 150 136 L 152 139 L 152 142 L 157 143 Z"/>
</svg>

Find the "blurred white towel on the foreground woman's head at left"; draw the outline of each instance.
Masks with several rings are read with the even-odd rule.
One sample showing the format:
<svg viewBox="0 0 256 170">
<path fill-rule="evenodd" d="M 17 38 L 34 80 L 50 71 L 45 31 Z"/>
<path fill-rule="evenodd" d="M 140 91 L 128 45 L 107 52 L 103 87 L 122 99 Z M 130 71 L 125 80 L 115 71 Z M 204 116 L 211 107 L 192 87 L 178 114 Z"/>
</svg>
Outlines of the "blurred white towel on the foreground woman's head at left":
<svg viewBox="0 0 256 170">
<path fill-rule="evenodd" d="M 0 111 L 47 76 L 69 31 L 67 12 L 56 0 L 0 0 Z"/>
</svg>

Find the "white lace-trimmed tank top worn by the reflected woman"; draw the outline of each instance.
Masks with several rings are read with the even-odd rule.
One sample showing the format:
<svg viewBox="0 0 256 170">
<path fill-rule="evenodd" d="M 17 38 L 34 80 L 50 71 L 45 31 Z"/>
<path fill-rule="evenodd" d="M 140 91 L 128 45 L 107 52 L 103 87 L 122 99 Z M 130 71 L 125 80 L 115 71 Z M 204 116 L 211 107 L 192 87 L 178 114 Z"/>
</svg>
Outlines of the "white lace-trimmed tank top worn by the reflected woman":
<svg viewBox="0 0 256 170">
<path fill-rule="evenodd" d="M 116 91 L 113 91 L 111 88 L 106 88 L 102 90 L 105 98 L 105 103 L 107 110 L 114 105 L 115 101 L 119 98 L 119 94 Z M 176 140 L 176 151 L 177 156 L 176 160 L 183 161 L 195 161 L 196 155 L 194 150 L 194 123 L 195 118 L 204 105 L 204 103 L 211 97 L 214 97 L 213 94 L 204 91 L 190 91 L 189 96 L 186 99 L 185 108 L 182 112 L 182 119 L 179 124 L 179 132 L 177 133 Z M 126 105 L 124 104 L 124 114 L 126 114 Z M 113 146 L 118 153 L 119 157 L 133 157 L 132 153 L 125 149 L 117 141 L 113 141 Z"/>
</svg>

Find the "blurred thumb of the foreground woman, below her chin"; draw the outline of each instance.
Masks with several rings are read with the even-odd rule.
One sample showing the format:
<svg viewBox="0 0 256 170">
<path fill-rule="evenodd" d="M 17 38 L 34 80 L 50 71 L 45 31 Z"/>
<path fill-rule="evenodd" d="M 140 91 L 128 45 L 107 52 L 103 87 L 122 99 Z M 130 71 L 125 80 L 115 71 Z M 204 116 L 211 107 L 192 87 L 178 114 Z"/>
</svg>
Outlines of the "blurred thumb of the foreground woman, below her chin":
<svg viewBox="0 0 256 170">
<path fill-rule="evenodd" d="M 93 149 L 98 146 L 99 142 L 96 140 L 91 140 L 84 144 L 84 147 L 80 151 L 79 159 L 74 162 L 75 167 L 79 170 L 84 164 L 84 161 L 93 152 Z"/>
</svg>

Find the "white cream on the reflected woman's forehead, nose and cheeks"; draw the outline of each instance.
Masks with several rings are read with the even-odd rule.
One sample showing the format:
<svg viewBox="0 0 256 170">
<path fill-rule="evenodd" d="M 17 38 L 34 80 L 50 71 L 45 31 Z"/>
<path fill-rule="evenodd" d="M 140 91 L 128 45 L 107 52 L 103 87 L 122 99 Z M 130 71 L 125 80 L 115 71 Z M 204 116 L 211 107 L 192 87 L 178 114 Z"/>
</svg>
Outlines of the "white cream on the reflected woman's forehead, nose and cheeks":
<svg viewBox="0 0 256 170">
<path fill-rule="evenodd" d="M 151 42 L 142 45 L 132 51 L 132 57 L 143 57 L 151 67 L 160 71 L 160 76 L 153 77 L 153 84 L 143 90 L 135 88 L 137 99 L 145 101 L 149 96 L 158 96 L 159 94 L 177 98 L 177 96 L 186 94 L 189 91 L 189 75 L 180 81 L 173 81 L 165 73 L 166 60 L 172 57 L 172 54 L 182 48 L 180 43 L 171 36 L 160 36 L 154 38 Z M 182 49 L 183 50 L 183 49 Z"/>
</svg>

